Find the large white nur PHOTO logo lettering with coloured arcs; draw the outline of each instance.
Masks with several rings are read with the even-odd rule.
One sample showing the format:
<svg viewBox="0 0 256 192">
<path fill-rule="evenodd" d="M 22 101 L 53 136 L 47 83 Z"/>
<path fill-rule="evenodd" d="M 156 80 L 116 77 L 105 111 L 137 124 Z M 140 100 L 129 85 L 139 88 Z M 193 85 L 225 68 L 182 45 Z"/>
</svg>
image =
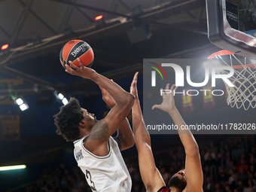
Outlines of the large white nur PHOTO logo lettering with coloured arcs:
<svg viewBox="0 0 256 192">
<path fill-rule="evenodd" d="M 183 87 L 185 86 L 185 83 L 187 86 L 190 87 L 204 87 L 207 84 L 209 84 L 209 81 L 211 81 L 211 86 L 216 87 L 216 80 L 220 79 L 224 81 L 225 84 L 227 84 L 228 87 L 234 87 L 234 84 L 229 80 L 230 77 L 233 76 L 234 74 L 234 69 L 229 67 L 229 66 L 218 66 L 218 65 L 212 65 L 210 62 L 206 62 L 203 60 L 201 62 L 201 67 L 200 70 L 194 71 L 194 73 L 197 73 L 197 78 L 204 77 L 203 81 L 201 82 L 194 82 L 191 80 L 192 76 L 195 76 L 191 70 L 191 64 L 189 66 L 186 66 L 184 60 L 187 59 L 161 59 L 155 62 L 148 61 L 146 60 L 144 62 L 144 71 L 150 71 L 150 79 L 151 81 L 146 81 L 146 82 L 151 82 L 151 87 L 157 87 L 157 84 L 161 84 L 159 80 L 157 81 L 157 74 L 160 75 L 160 78 L 162 81 L 164 80 L 163 75 L 165 76 L 165 79 L 168 80 L 168 77 L 175 77 L 175 80 L 172 82 L 168 82 L 169 84 L 175 84 L 177 87 Z M 191 60 L 193 59 L 189 59 Z M 157 64 L 157 62 L 159 64 Z M 198 62 L 198 59 L 197 61 Z M 179 63 L 179 64 L 177 64 Z M 193 63 L 193 62 L 192 62 Z M 185 65 L 184 65 L 185 64 Z M 185 69 L 182 69 L 181 66 L 185 66 Z M 164 69 L 163 69 L 164 68 Z M 152 70 L 154 69 L 154 70 Z M 203 70 L 202 70 L 203 69 Z M 221 73 L 221 72 L 224 72 Z M 162 75 L 163 73 L 163 75 Z M 148 74 L 148 73 L 145 73 Z M 211 77 L 210 77 L 211 76 Z M 169 78 L 172 79 L 172 78 Z M 161 87 L 162 88 L 162 87 Z M 200 92 L 203 92 L 206 95 L 206 92 L 211 91 L 213 96 L 223 96 L 224 95 L 224 90 L 218 90 L 218 89 L 213 89 L 213 90 L 196 90 L 196 89 L 189 89 L 189 90 L 178 90 L 174 92 L 175 94 L 181 94 L 183 96 L 198 96 Z M 160 96 L 163 94 L 168 94 L 172 93 L 171 90 L 160 90 Z"/>
</svg>

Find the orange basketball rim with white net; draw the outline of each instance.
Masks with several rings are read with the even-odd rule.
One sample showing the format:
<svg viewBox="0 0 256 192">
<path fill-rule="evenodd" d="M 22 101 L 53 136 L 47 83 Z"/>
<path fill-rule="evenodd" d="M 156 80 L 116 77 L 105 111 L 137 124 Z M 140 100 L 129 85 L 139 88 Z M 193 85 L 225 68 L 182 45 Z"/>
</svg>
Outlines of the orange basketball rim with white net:
<svg viewBox="0 0 256 192">
<path fill-rule="evenodd" d="M 227 89 L 227 105 L 232 108 L 243 107 L 256 108 L 256 61 L 235 55 L 228 50 L 221 50 L 213 53 L 208 59 L 215 59 L 218 65 L 230 66 L 234 69 L 234 75 L 228 78 L 235 87 L 229 87 L 224 82 Z M 221 70 L 220 74 L 227 74 Z"/>
</svg>

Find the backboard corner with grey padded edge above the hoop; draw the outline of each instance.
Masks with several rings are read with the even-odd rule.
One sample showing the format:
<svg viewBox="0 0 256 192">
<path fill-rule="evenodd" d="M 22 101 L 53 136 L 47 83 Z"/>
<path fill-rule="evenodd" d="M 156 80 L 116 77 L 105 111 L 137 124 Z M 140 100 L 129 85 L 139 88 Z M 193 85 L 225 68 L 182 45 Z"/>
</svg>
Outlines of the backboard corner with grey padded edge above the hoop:
<svg viewBox="0 0 256 192">
<path fill-rule="evenodd" d="M 256 58 L 256 1 L 206 0 L 208 37 L 212 44 Z"/>
</svg>

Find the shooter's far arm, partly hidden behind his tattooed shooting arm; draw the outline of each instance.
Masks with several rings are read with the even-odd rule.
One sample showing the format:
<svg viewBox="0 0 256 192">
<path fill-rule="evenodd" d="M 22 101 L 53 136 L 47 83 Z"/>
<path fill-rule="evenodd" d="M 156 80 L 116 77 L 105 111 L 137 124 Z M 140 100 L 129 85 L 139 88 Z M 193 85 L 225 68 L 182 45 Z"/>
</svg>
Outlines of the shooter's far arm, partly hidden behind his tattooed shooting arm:
<svg viewBox="0 0 256 192">
<path fill-rule="evenodd" d="M 102 99 L 109 106 L 109 108 L 114 108 L 116 102 L 114 98 L 106 91 L 104 88 L 99 87 L 102 90 Z M 120 143 L 120 150 L 125 150 L 127 148 L 131 148 L 134 145 L 134 136 L 133 131 L 131 129 L 130 123 L 127 118 L 123 120 L 120 124 L 120 127 L 117 130 L 117 136 L 115 137 L 117 142 Z M 119 145 L 119 144 L 118 144 Z"/>
</svg>

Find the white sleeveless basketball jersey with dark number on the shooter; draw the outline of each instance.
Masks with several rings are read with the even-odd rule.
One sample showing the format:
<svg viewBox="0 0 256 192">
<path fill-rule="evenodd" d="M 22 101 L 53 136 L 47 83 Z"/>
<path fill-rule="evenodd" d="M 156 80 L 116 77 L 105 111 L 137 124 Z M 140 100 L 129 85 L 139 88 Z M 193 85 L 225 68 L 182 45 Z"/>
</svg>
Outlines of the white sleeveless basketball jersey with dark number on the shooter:
<svg viewBox="0 0 256 192">
<path fill-rule="evenodd" d="M 74 142 L 74 155 L 92 191 L 130 192 L 132 180 L 117 142 L 110 137 L 108 155 L 99 157 L 84 148 L 86 138 Z"/>
</svg>

